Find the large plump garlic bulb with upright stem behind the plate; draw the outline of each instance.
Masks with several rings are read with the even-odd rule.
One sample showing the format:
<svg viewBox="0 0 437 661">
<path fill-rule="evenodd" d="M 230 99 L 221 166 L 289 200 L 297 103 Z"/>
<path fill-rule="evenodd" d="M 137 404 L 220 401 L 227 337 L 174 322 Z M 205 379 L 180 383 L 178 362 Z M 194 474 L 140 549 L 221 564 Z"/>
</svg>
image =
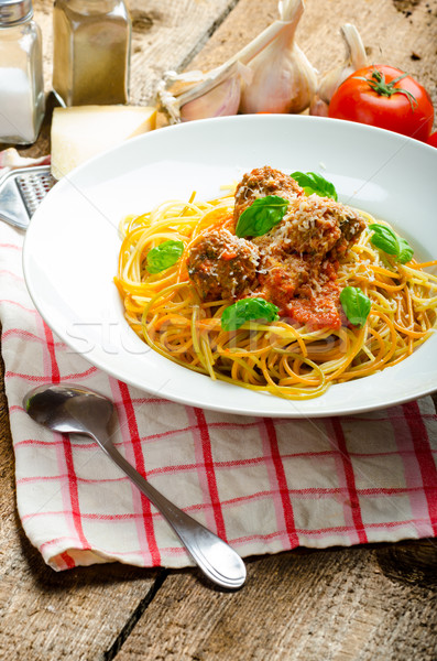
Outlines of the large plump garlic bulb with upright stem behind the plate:
<svg viewBox="0 0 437 661">
<path fill-rule="evenodd" d="M 253 82 L 241 93 L 240 112 L 302 112 L 317 87 L 316 71 L 294 41 L 303 0 L 278 3 L 282 29 L 249 66 Z"/>
</svg>

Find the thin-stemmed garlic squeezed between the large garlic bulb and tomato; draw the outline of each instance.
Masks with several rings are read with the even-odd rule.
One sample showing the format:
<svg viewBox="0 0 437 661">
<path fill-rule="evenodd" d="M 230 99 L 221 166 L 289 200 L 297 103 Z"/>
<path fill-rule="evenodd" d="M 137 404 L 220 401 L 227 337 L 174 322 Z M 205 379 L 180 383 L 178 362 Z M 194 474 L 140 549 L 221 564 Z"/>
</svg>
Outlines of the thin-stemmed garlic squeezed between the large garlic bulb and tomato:
<svg viewBox="0 0 437 661">
<path fill-rule="evenodd" d="M 340 29 L 340 33 L 346 45 L 345 62 L 323 75 L 317 91 L 313 97 L 309 115 L 321 115 L 327 117 L 329 102 L 337 87 L 339 87 L 350 74 L 353 74 L 357 69 L 368 65 L 365 50 L 357 28 L 350 23 L 346 23 Z"/>
</svg>

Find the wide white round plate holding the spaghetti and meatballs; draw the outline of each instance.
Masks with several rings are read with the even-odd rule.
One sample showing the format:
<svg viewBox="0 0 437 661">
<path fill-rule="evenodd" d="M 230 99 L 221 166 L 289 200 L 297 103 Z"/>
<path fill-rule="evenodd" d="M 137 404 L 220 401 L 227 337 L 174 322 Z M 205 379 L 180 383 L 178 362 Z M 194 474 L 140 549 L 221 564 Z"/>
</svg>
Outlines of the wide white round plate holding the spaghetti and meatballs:
<svg viewBox="0 0 437 661">
<path fill-rule="evenodd" d="M 303 116 L 240 116 L 170 127 L 130 140 L 62 180 L 34 215 L 24 246 L 31 296 L 75 351 L 151 393 L 249 415 L 357 413 L 437 389 L 437 336 L 372 377 L 287 401 L 174 365 L 142 343 L 123 318 L 112 282 L 118 224 L 168 198 L 220 193 L 262 165 L 316 171 L 342 202 L 392 223 L 424 259 L 437 257 L 437 150 L 363 124 Z"/>
</svg>

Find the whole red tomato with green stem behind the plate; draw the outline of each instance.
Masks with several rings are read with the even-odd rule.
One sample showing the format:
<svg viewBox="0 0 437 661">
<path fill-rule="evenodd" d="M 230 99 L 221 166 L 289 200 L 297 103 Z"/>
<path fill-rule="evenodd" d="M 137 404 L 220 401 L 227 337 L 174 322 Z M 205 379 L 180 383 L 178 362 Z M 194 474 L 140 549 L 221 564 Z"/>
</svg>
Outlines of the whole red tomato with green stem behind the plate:
<svg viewBox="0 0 437 661">
<path fill-rule="evenodd" d="M 354 72 L 335 91 L 329 117 L 389 129 L 426 141 L 434 107 L 426 89 L 393 66 L 376 64 Z"/>
</svg>

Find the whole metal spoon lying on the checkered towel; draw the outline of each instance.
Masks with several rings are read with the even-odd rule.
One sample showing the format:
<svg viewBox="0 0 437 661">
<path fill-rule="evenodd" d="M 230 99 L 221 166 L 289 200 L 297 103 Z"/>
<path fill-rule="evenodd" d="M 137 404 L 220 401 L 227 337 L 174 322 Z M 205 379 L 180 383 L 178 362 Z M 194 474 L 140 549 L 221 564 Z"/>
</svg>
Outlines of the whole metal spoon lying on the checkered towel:
<svg viewBox="0 0 437 661">
<path fill-rule="evenodd" d="M 29 392 L 23 405 L 33 420 L 51 430 L 91 436 L 165 517 L 210 581 L 227 588 L 243 585 L 245 566 L 238 553 L 156 491 L 113 446 L 108 433 L 113 411 L 110 400 L 87 388 L 53 384 Z"/>
</svg>

